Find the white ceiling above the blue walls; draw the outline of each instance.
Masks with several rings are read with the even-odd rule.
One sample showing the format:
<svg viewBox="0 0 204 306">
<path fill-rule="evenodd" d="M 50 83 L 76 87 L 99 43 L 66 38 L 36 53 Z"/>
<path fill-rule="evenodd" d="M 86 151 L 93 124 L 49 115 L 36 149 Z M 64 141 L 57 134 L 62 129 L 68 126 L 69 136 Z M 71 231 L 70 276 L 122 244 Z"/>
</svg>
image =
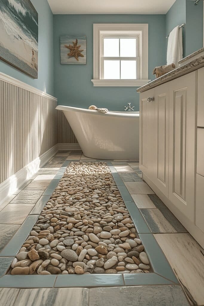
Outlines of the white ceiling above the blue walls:
<svg viewBox="0 0 204 306">
<path fill-rule="evenodd" d="M 166 14 L 176 0 L 48 0 L 53 14 Z"/>
</svg>

